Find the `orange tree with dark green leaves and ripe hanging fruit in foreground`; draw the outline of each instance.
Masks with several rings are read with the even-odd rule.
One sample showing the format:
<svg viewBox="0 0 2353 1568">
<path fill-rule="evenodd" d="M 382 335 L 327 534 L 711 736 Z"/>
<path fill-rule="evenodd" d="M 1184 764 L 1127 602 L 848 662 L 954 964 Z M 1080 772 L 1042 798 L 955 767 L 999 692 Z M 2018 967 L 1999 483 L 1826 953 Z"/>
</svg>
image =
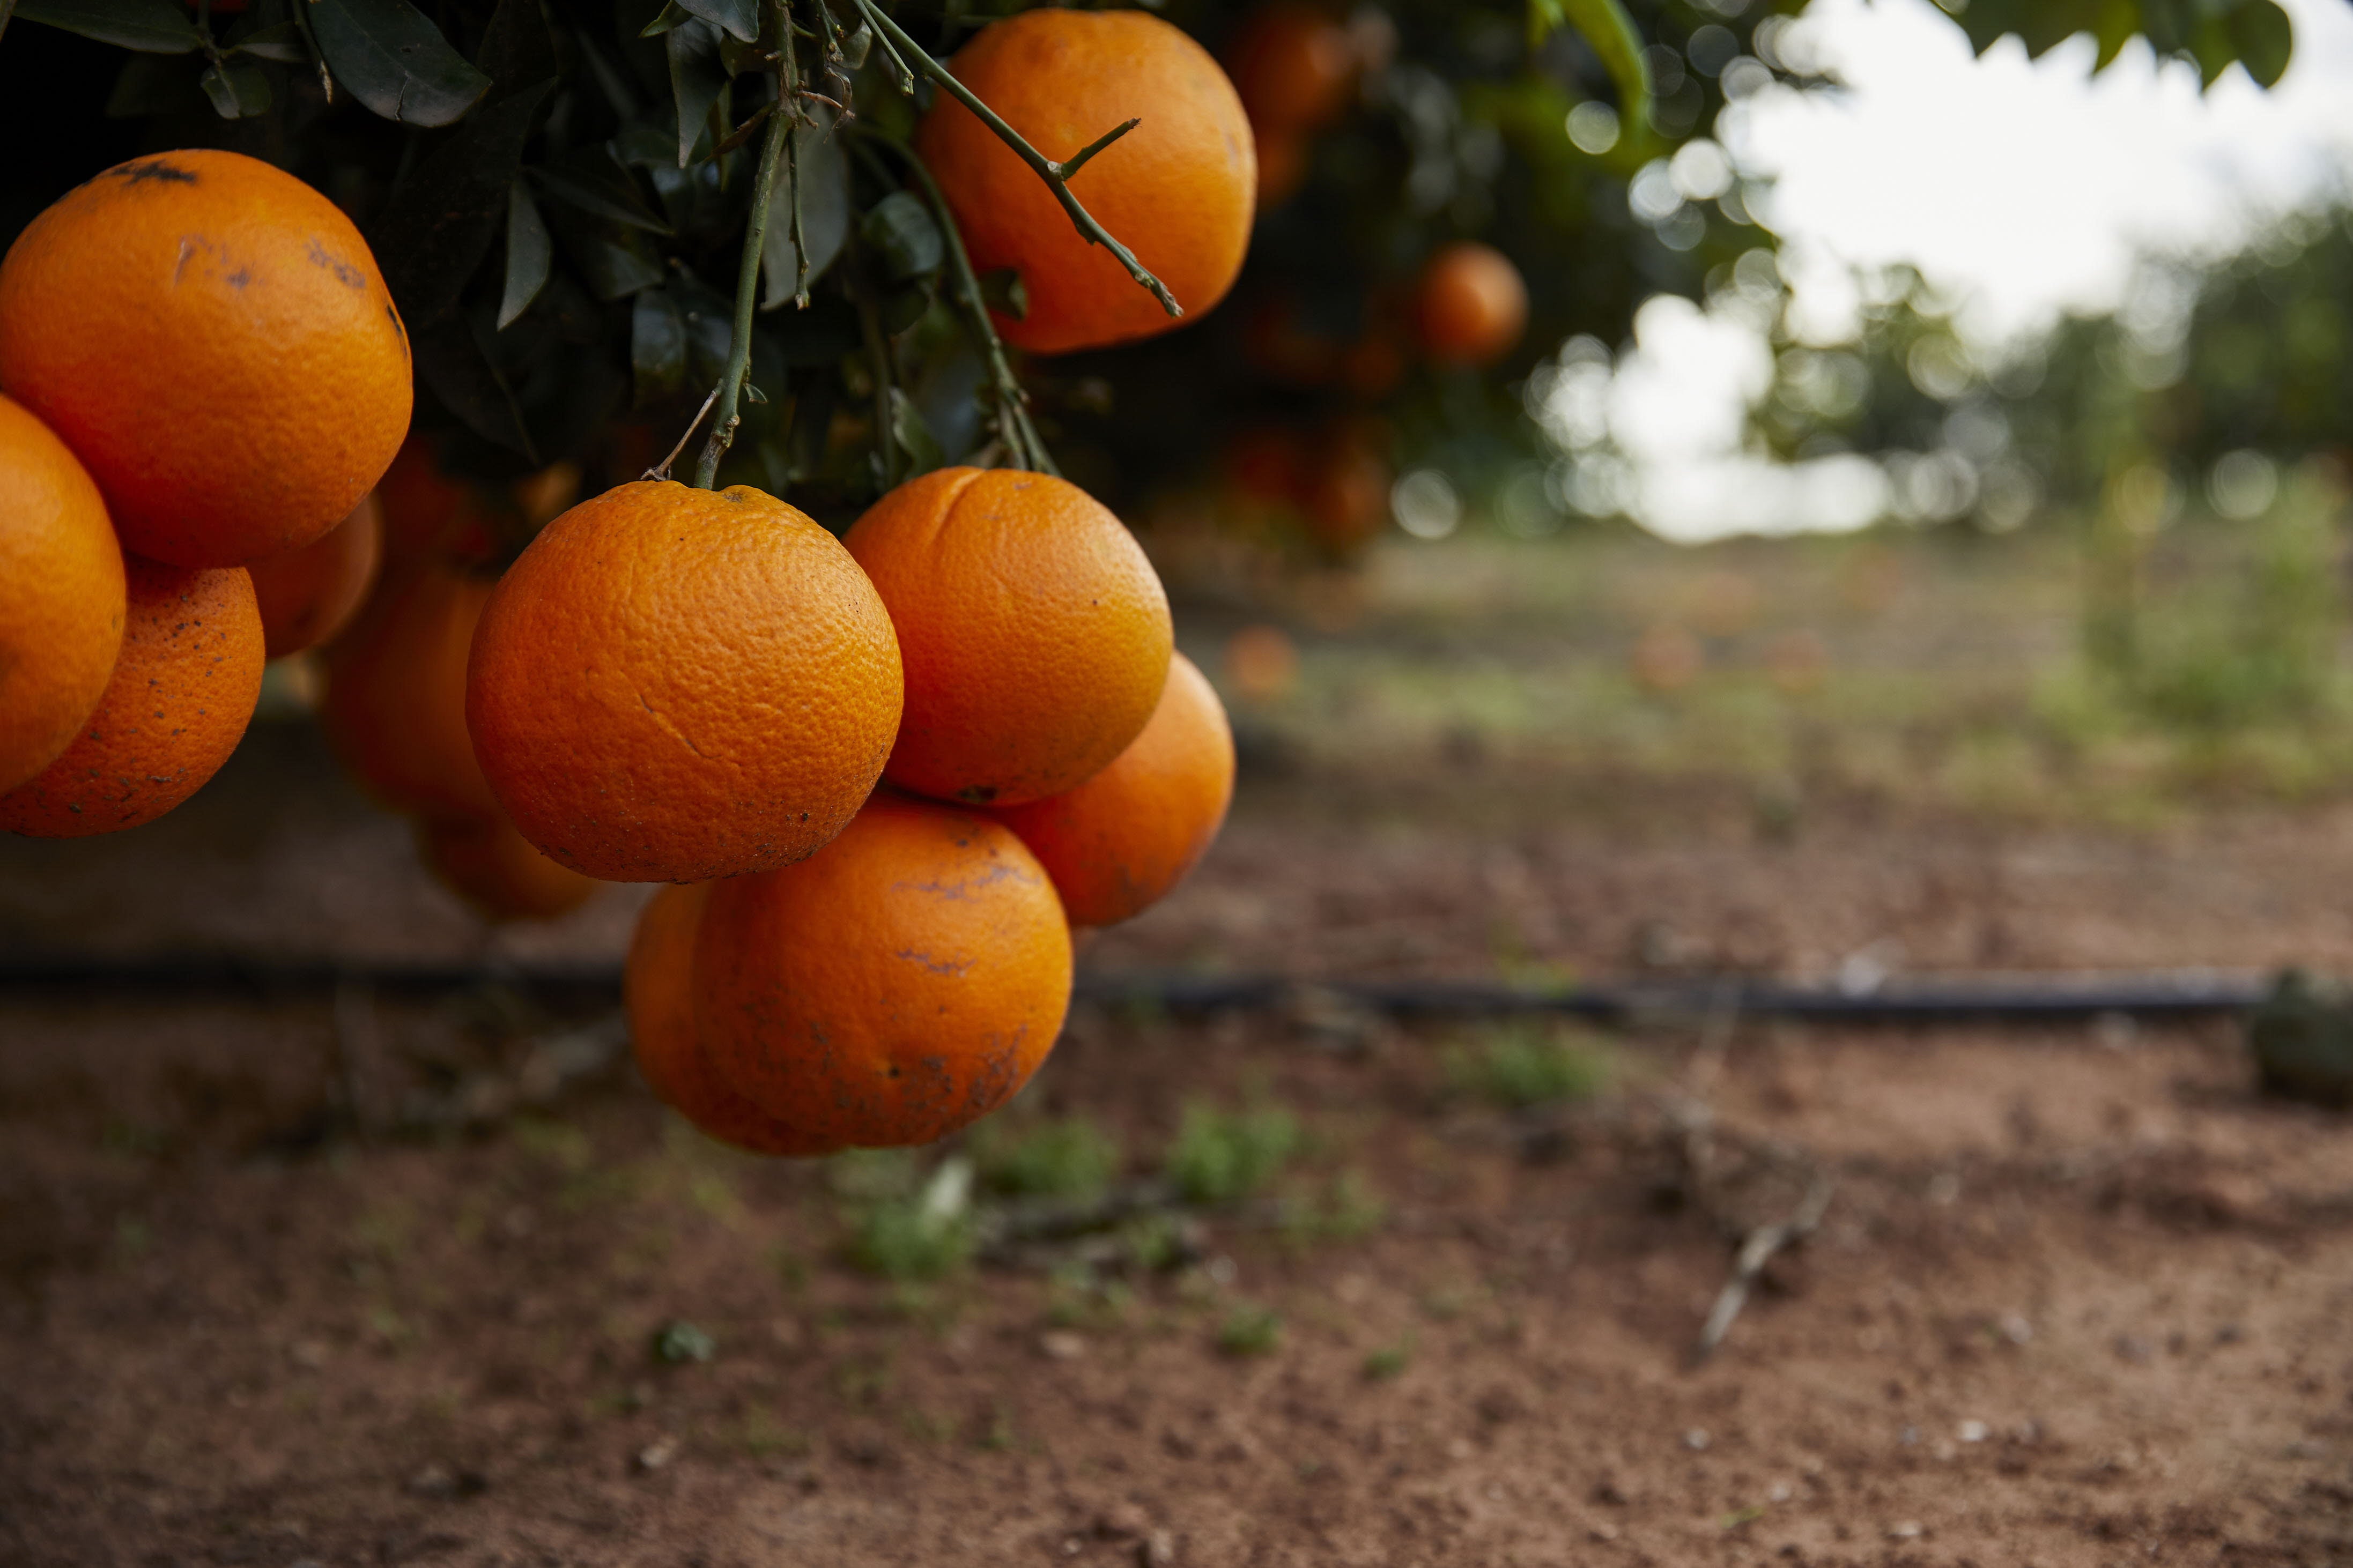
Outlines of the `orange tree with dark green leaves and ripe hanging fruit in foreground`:
<svg viewBox="0 0 2353 1568">
<path fill-rule="evenodd" d="M 1548 343 L 1767 242 L 1704 127 L 1795 75 L 1744 0 L 1167 12 L 0 0 L 111 78 L 0 261 L 0 825 L 169 811 L 351 616 L 325 729 L 445 882 L 680 889 L 689 1119 L 1002 1105 L 1233 788 L 1099 496 L 1254 442 L 1362 543 L 1393 440 L 1525 442 Z"/>
</svg>

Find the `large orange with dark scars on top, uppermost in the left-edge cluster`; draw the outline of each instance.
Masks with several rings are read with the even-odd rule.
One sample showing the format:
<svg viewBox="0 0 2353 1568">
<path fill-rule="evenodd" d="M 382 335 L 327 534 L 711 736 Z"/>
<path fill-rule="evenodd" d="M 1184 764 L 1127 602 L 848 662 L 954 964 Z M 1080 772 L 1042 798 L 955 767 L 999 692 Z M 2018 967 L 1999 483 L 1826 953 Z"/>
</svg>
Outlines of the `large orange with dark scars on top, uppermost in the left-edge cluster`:
<svg viewBox="0 0 2353 1568">
<path fill-rule="evenodd" d="M 0 263 L 0 386 L 73 447 L 122 548 L 311 543 L 409 428 L 409 339 L 334 202 L 242 153 L 115 165 Z"/>
</svg>

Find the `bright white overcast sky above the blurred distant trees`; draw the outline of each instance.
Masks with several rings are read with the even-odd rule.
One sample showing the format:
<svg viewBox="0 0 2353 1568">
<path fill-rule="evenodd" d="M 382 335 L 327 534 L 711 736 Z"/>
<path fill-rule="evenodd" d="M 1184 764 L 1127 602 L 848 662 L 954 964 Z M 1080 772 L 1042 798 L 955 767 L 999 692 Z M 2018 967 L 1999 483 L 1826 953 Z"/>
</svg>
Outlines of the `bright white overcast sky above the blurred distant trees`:
<svg viewBox="0 0 2353 1568">
<path fill-rule="evenodd" d="M 1718 122 L 1784 242 L 1793 334 L 1852 334 L 1854 268 L 1908 261 L 1955 301 L 1972 343 L 1998 348 L 2061 313 L 2125 306 L 2141 256 L 2228 254 L 2285 212 L 2344 200 L 2353 5 L 2282 5 L 2297 49 L 2280 85 L 2264 92 L 2233 66 L 2200 94 L 2188 63 L 2158 63 L 2139 40 L 2094 78 L 2089 38 L 2035 61 L 2014 38 L 1972 56 L 1929 0 L 1814 0 L 1781 52 L 1809 54 L 1845 92 L 1767 87 Z M 1737 294 L 1708 310 L 1661 296 L 1607 381 L 1572 362 L 1551 423 L 1605 421 L 1631 458 L 1581 480 L 1671 538 L 1882 515 L 1887 480 L 1871 463 L 1741 454 L 1744 407 L 1772 376 L 1760 327 Z"/>
</svg>

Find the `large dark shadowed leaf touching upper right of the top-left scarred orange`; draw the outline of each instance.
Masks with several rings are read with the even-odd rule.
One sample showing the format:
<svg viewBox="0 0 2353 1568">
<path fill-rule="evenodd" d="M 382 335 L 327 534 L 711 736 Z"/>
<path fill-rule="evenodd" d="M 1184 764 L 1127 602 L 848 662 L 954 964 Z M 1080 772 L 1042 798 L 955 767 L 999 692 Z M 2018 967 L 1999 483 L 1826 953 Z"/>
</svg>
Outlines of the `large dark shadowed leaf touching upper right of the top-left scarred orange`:
<svg viewBox="0 0 2353 1568">
<path fill-rule="evenodd" d="M 546 82 L 471 115 L 393 186 L 369 223 L 384 282 L 412 327 L 456 303 L 496 240 L 544 96 Z"/>
</svg>

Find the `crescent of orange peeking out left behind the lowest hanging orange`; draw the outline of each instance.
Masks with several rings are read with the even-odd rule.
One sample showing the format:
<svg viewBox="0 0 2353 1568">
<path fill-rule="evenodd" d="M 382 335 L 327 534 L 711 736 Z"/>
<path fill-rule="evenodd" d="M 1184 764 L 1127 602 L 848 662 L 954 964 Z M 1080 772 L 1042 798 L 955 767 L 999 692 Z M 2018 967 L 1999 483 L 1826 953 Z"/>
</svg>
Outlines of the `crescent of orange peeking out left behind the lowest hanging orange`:
<svg viewBox="0 0 2353 1568">
<path fill-rule="evenodd" d="M 671 884 L 638 914 L 621 994 L 638 1072 L 687 1121 L 755 1154 L 831 1154 L 840 1145 L 795 1135 L 711 1070 L 694 1025 L 694 938 L 711 882 Z"/>
</svg>

